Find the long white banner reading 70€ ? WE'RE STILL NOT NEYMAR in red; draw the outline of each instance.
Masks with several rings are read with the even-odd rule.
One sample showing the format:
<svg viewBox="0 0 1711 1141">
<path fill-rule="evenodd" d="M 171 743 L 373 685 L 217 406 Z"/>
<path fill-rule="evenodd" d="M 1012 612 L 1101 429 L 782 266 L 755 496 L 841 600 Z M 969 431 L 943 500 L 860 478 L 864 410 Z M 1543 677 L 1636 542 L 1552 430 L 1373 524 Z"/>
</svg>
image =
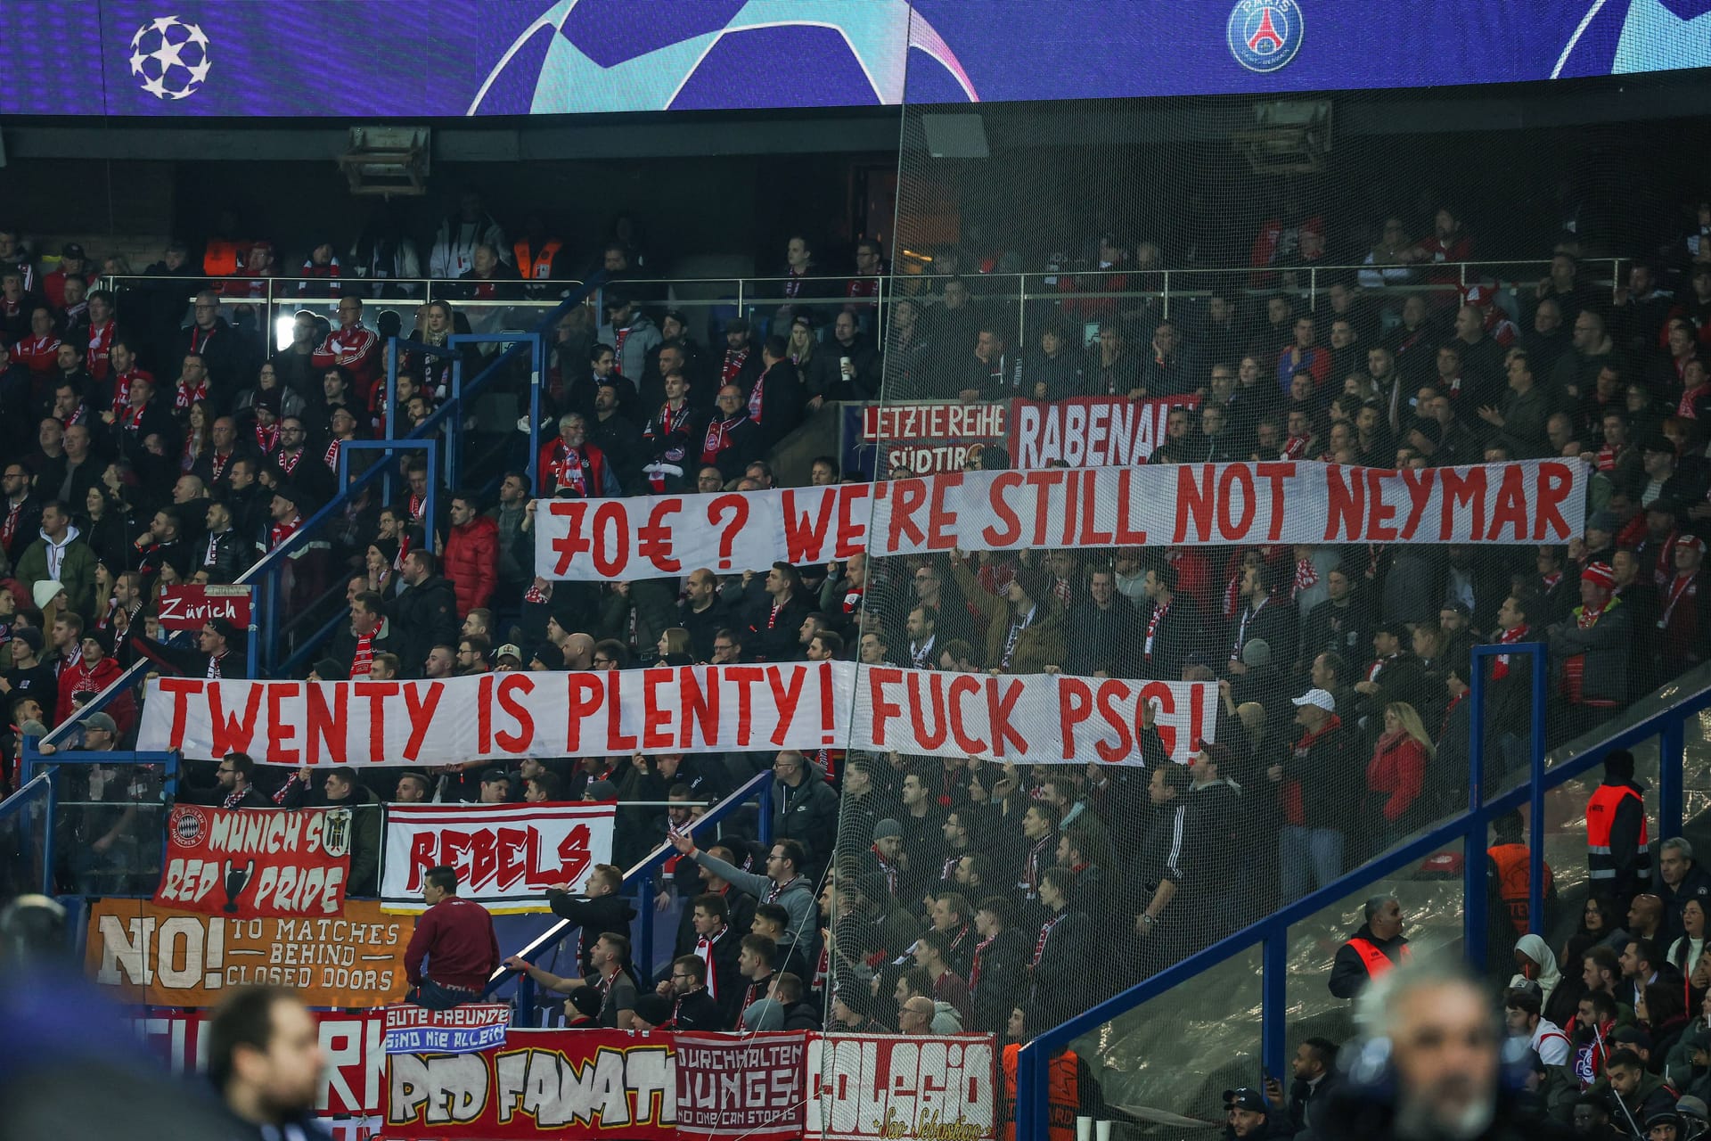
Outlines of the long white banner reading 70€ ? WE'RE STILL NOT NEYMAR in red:
<svg viewBox="0 0 1711 1141">
<path fill-rule="evenodd" d="M 1388 470 L 1276 460 L 943 472 L 832 488 L 541 500 L 536 573 L 633 582 L 869 554 L 1146 544 L 1567 542 L 1581 460 Z"/>
</svg>

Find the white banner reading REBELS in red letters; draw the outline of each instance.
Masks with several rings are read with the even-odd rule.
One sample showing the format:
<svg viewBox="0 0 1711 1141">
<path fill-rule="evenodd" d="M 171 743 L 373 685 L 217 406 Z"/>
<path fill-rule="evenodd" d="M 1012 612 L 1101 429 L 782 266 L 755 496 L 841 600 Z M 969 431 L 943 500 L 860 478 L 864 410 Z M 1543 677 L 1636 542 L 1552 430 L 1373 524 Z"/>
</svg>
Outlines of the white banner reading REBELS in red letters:
<svg viewBox="0 0 1711 1141">
<path fill-rule="evenodd" d="M 352 683 L 344 683 L 352 684 Z M 459 895 L 489 912 L 546 912 L 548 888 L 580 893 L 613 860 L 611 801 L 594 804 L 390 804 L 380 862 L 387 912 L 424 912 L 423 874 L 457 869 Z"/>
</svg>

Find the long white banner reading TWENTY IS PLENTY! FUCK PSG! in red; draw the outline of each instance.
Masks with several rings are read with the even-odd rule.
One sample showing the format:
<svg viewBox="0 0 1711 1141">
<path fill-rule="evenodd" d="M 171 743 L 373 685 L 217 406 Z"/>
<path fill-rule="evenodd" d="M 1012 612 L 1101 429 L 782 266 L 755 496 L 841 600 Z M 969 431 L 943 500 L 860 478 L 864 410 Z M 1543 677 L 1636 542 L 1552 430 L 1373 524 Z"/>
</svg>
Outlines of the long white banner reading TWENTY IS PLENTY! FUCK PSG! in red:
<svg viewBox="0 0 1711 1141">
<path fill-rule="evenodd" d="M 269 765 L 460 765 L 524 756 L 826 746 L 994 761 L 1141 763 L 1141 703 L 1167 753 L 1211 741 L 1217 686 L 857 665 L 679 665 L 447 681 L 156 677 L 139 749 Z"/>
</svg>

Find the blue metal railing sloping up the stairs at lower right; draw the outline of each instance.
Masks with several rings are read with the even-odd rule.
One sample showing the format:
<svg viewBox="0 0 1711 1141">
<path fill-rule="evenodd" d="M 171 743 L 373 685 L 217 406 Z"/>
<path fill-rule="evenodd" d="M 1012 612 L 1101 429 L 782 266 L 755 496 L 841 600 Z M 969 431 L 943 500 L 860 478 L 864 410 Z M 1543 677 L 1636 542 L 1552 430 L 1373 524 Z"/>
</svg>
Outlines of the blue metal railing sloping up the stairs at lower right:
<svg viewBox="0 0 1711 1141">
<path fill-rule="evenodd" d="M 1531 766 L 1525 783 L 1487 801 L 1485 669 L 1482 662 L 1499 655 L 1531 659 Z M 1523 804 L 1530 806 L 1531 813 L 1531 819 L 1528 821 L 1528 931 L 1536 934 L 1543 925 L 1545 792 L 1601 765 L 1615 749 L 1627 749 L 1651 737 L 1658 739 L 1658 837 L 1667 840 L 1680 835 L 1685 724 L 1689 717 L 1697 717 L 1702 710 L 1711 708 L 1711 689 L 1678 696 L 1643 722 L 1620 729 L 1569 760 L 1545 768 L 1545 710 L 1548 696 L 1548 659 L 1545 647 L 1536 641 L 1482 645 L 1473 648 L 1473 686 L 1468 696 L 1471 703 L 1468 718 L 1471 725 L 1468 741 L 1468 811 L 1023 1043 L 1016 1052 L 1015 1120 L 1018 1141 L 1047 1141 L 1049 1138 L 1045 1085 L 1052 1054 L 1068 1047 L 1080 1035 L 1136 1009 L 1143 1002 L 1194 978 L 1234 955 L 1247 951 L 1256 943 L 1261 944 L 1261 1059 L 1264 1067 L 1273 1074 L 1287 1073 L 1288 1026 L 1285 1021 L 1285 982 L 1288 977 L 1287 953 L 1290 925 L 1312 917 L 1323 908 L 1341 903 L 1353 893 L 1371 888 L 1379 879 L 1456 842 L 1465 845 L 1463 891 L 1466 898 L 1463 903 L 1463 955 L 1475 967 L 1483 965 L 1487 884 L 1485 859 L 1482 855 L 1487 847 L 1487 830 L 1495 818 L 1513 813 Z"/>
</svg>

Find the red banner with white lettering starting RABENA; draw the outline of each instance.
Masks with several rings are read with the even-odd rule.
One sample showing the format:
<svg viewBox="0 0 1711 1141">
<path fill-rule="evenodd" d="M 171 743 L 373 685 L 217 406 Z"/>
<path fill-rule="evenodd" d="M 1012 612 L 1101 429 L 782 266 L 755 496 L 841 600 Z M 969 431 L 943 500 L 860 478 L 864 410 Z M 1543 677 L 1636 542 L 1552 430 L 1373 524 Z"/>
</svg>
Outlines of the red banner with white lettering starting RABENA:
<svg viewBox="0 0 1711 1141">
<path fill-rule="evenodd" d="M 1011 400 L 1009 462 L 1020 469 L 1145 464 L 1165 441 L 1170 409 L 1198 405 L 1199 397 Z"/>
</svg>

